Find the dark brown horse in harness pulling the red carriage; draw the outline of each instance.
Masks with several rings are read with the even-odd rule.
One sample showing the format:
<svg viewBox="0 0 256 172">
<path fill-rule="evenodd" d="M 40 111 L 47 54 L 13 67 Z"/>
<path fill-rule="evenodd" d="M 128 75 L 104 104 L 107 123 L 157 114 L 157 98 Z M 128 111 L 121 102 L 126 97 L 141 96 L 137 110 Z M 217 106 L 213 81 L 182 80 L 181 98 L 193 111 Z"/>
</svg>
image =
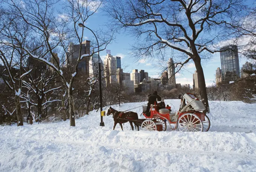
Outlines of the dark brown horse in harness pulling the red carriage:
<svg viewBox="0 0 256 172">
<path fill-rule="evenodd" d="M 122 123 L 126 123 L 128 122 L 129 120 L 128 119 L 131 119 L 131 120 L 136 120 L 136 119 L 139 119 L 138 117 L 138 114 L 136 112 L 126 112 L 126 113 L 123 113 L 123 112 L 119 112 L 117 110 L 114 110 L 113 108 L 109 108 L 108 109 L 108 113 L 107 113 L 107 116 L 113 114 L 113 119 L 114 119 L 114 128 L 113 130 L 115 129 L 117 123 L 120 124 L 122 130 L 123 130 L 123 126 L 122 126 Z M 129 121 L 130 122 L 130 125 L 131 125 L 131 129 L 134 130 L 133 128 L 133 122 L 132 121 Z M 136 123 L 134 123 L 135 126 L 137 126 L 137 129 L 139 131 L 139 125 L 137 125 Z"/>
</svg>

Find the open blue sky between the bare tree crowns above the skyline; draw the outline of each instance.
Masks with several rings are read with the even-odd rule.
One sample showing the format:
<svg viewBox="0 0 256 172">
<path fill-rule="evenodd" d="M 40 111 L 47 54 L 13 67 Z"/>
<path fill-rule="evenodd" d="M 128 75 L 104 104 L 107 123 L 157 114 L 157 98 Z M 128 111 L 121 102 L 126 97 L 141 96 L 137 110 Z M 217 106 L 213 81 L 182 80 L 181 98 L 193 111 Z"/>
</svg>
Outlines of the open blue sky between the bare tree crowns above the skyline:
<svg viewBox="0 0 256 172">
<path fill-rule="evenodd" d="M 87 21 L 87 27 L 95 30 L 99 27 L 104 27 L 105 23 L 108 23 L 111 26 L 110 18 L 102 14 L 103 13 L 101 9 L 99 9 L 99 11 L 91 16 L 91 18 Z M 85 31 L 85 37 L 91 37 L 90 33 Z M 140 62 L 136 62 L 136 59 L 129 56 L 129 49 L 131 47 L 130 45 L 135 43 L 136 41 L 137 38 L 133 37 L 133 35 L 120 32 L 120 34 L 116 34 L 116 40 L 113 41 L 109 46 L 107 46 L 107 49 L 111 50 L 111 55 L 121 57 L 122 68 L 125 66 L 124 72 L 131 72 L 133 69 L 142 69 L 145 70 L 145 72 L 148 72 L 149 76 L 153 78 L 159 78 L 159 73 L 161 69 L 154 67 L 154 64 L 157 62 L 156 60 L 152 61 L 149 59 L 145 59 L 145 61 L 142 60 Z M 104 61 L 106 52 L 101 52 L 100 55 L 102 60 Z M 241 58 L 239 56 L 240 68 L 242 67 L 242 64 L 244 64 L 246 61 L 248 61 L 248 59 Z M 212 58 L 208 61 L 203 61 L 202 65 L 206 79 L 206 85 L 212 85 L 213 81 L 215 81 L 215 70 L 217 69 L 217 67 L 221 67 L 219 53 L 213 54 Z M 176 75 L 176 83 L 181 83 L 181 85 L 190 84 L 190 86 L 192 87 L 192 74 L 195 72 L 195 70 L 196 69 L 194 63 L 188 64 L 180 73 Z"/>
</svg>

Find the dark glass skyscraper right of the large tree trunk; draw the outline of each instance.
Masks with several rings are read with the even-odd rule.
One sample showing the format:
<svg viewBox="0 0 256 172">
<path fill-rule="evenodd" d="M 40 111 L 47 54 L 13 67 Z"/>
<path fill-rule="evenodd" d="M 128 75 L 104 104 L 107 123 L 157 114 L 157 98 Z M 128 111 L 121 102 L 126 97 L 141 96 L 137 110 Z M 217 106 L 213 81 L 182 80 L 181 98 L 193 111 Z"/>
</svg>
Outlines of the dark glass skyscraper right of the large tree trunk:
<svg viewBox="0 0 256 172">
<path fill-rule="evenodd" d="M 224 46 L 220 49 L 222 81 L 236 81 L 240 78 L 238 47 L 236 45 Z"/>
</svg>

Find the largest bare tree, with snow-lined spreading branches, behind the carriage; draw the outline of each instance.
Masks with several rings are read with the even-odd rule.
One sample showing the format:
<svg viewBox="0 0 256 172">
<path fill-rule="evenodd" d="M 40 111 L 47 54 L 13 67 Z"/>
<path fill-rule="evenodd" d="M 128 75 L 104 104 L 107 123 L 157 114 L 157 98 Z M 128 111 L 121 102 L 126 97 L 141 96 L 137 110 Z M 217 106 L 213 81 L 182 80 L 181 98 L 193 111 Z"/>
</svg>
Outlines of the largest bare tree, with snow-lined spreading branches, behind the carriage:
<svg viewBox="0 0 256 172">
<path fill-rule="evenodd" d="M 241 0 L 110 0 L 106 11 L 116 24 L 144 40 L 134 46 L 138 57 L 163 57 L 173 49 L 182 54 L 176 59 L 176 72 L 193 61 L 201 98 L 209 110 L 201 60 L 219 51 L 212 48 L 227 38 L 222 34 L 224 21 L 241 7 Z"/>
</svg>

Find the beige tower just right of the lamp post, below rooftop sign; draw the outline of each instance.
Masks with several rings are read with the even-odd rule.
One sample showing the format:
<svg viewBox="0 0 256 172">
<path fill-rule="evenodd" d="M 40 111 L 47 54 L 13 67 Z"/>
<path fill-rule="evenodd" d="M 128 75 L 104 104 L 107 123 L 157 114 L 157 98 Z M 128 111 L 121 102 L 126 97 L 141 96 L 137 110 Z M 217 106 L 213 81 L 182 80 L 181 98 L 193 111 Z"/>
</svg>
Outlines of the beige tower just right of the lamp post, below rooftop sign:
<svg viewBox="0 0 256 172">
<path fill-rule="evenodd" d="M 106 77 L 106 85 L 117 83 L 116 78 L 116 59 L 111 55 L 107 54 L 104 60 L 104 75 Z"/>
</svg>

